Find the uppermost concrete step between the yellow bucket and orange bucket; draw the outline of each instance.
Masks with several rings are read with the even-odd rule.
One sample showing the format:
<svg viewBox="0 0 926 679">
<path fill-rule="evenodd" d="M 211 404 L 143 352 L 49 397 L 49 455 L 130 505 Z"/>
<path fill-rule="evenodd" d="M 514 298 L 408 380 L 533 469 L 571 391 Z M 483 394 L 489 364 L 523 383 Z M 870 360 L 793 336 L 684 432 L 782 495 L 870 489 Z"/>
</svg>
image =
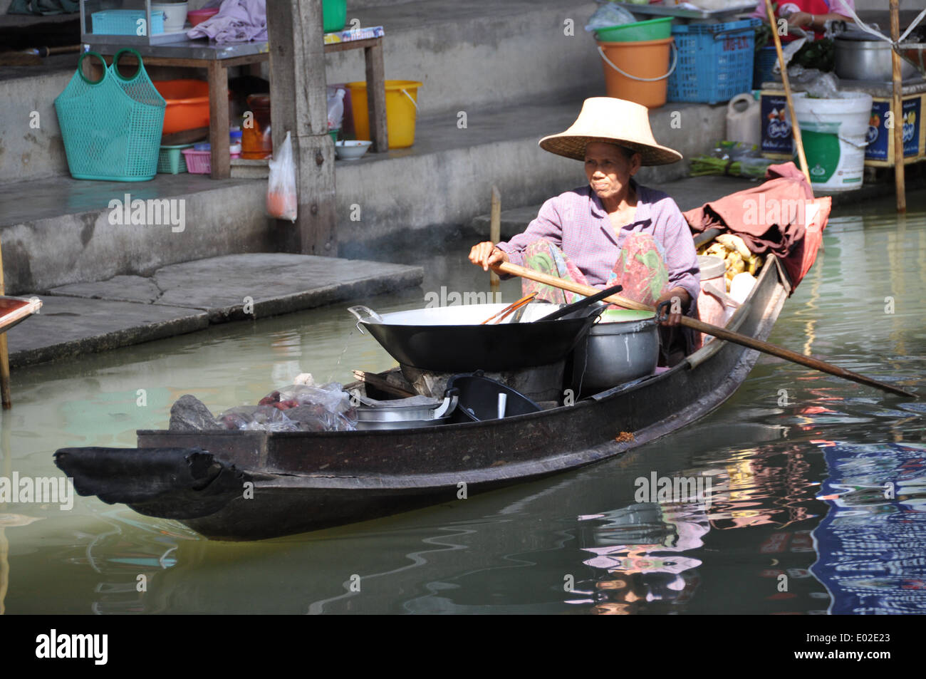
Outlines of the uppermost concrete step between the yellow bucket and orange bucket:
<svg viewBox="0 0 926 679">
<path fill-rule="evenodd" d="M 485 108 L 600 87 L 601 59 L 583 29 L 594 8 L 590 0 L 419 0 L 349 5 L 347 20 L 383 26 L 386 78 L 424 83 L 421 114 L 462 110 L 475 116 Z M 329 55 L 327 77 L 332 83 L 363 80 L 362 53 Z"/>
</svg>

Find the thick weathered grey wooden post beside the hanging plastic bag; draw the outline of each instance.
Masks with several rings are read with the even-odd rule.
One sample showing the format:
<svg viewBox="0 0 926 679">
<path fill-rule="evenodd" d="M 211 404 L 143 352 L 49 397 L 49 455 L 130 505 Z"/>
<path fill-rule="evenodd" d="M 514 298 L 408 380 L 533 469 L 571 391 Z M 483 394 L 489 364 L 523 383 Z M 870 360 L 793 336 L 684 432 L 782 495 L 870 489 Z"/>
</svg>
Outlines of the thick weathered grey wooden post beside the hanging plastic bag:
<svg viewBox="0 0 926 679">
<path fill-rule="evenodd" d="M 286 132 L 293 141 L 298 216 L 279 221 L 287 249 L 337 257 L 334 145 L 328 134 L 328 96 L 321 3 L 267 4 L 270 116 L 276 152 Z"/>
</svg>

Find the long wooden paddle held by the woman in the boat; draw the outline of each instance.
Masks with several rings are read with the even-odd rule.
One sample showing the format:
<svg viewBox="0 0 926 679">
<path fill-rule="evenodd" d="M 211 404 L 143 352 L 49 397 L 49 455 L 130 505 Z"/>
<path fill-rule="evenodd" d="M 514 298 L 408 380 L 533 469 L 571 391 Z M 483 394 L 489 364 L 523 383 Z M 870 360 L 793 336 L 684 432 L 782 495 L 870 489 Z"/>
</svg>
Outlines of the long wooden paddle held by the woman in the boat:
<svg viewBox="0 0 926 679">
<path fill-rule="evenodd" d="M 597 288 L 594 288 L 591 285 L 582 285 L 581 283 L 564 281 L 560 278 L 556 278 L 555 276 L 550 276 L 545 273 L 539 273 L 538 271 L 525 269 L 524 267 L 519 267 L 518 265 L 511 264 L 509 262 L 495 264 L 491 268 L 500 273 L 508 273 L 513 276 L 520 276 L 521 278 L 536 281 L 537 283 L 546 283 L 547 285 L 553 285 L 554 287 L 560 288 L 562 290 L 569 290 L 569 292 L 577 293 L 579 295 L 588 296 L 600 292 Z M 617 304 L 620 307 L 635 308 L 641 311 L 656 310 L 649 305 L 641 304 L 640 302 L 634 302 L 632 299 L 627 299 L 626 297 L 621 297 L 620 295 L 610 295 L 609 297 L 605 297 L 604 301 L 609 302 L 610 304 Z M 813 368 L 816 371 L 828 372 L 831 375 L 842 377 L 845 380 L 851 380 L 852 382 L 857 382 L 858 384 L 867 384 L 869 386 L 882 389 L 882 391 L 896 394 L 897 396 L 907 396 L 909 398 L 919 397 L 916 394 L 912 394 L 911 392 L 905 391 L 891 384 L 884 384 L 883 382 L 872 380 L 870 377 L 865 377 L 865 375 L 859 375 L 857 372 L 847 371 L 845 368 L 832 365 L 832 363 L 826 363 L 822 360 L 818 360 L 817 358 L 803 356 L 802 354 L 798 354 L 794 351 L 791 351 L 790 349 L 785 349 L 782 346 L 771 345 L 768 342 L 757 340 L 755 337 L 749 337 L 748 335 L 740 333 L 732 333 L 725 328 L 719 328 L 716 325 L 711 325 L 710 323 L 706 323 L 704 321 L 695 321 L 694 319 L 690 319 L 687 316 L 682 316 L 682 325 L 691 328 L 692 330 L 696 330 L 699 333 L 720 337 L 720 339 L 727 340 L 733 344 L 748 346 L 750 349 L 756 349 L 757 351 L 761 351 L 765 354 L 771 354 L 772 356 L 777 356 L 778 358 L 784 358 L 785 360 L 790 360 L 794 363 L 806 366 L 807 368 Z"/>
</svg>

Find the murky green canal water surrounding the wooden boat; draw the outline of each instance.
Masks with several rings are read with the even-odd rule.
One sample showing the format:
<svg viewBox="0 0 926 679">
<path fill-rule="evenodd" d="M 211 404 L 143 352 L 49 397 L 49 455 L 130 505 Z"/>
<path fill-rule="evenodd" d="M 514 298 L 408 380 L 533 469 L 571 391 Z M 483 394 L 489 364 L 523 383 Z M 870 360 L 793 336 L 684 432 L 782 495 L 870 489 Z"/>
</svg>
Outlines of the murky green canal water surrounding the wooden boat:
<svg viewBox="0 0 926 679">
<path fill-rule="evenodd" d="M 441 295 L 442 285 L 485 290 L 486 274 L 465 262 L 468 246 L 452 243 L 452 257 L 426 258 L 422 288 L 366 302 L 390 311 L 424 306 L 424 295 Z M 910 211 L 900 219 L 887 199 L 854 208 L 832 219 L 817 264 L 770 341 L 922 390 L 924 288 L 923 194 L 910 195 Z M 504 283 L 503 294 L 517 298 L 519 284 Z M 885 312 L 890 304 L 893 313 Z M 183 394 L 219 411 L 255 403 L 300 372 L 349 382 L 352 369 L 390 367 L 392 359 L 354 329 L 347 306 L 15 371 L 16 405 L 0 420 L 0 476 L 57 477 L 52 453 L 61 446 L 134 446 L 134 430 L 166 425 L 170 404 Z M 926 552 L 923 414 L 920 403 L 763 357 L 721 409 L 621 459 L 313 534 L 209 542 L 179 523 L 95 497 L 77 497 L 69 510 L 0 505 L 0 608 L 858 612 L 871 597 L 888 600 L 909 589 L 907 581 L 926 582 L 923 567 L 907 558 Z M 839 467 L 834 450 L 847 466 Z M 871 450 L 873 458 L 853 457 Z M 638 504 L 634 479 L 652 472 L 710 477 L 710 506 Z M 850 512 L 870 534 L 867 545 L 853 547 L 860 549 L 853 568 L 878 583 L 857 601 L 823 582 L 848 558 L 848 547 L 845 539 L 842 552 L 825 547 L 833 532 L 824 517 L 838 508 L 822 498 L 822 484 L 851 473 L 857 493 L 895 472 L 905 474 L 899 500 L 858 503 Z M 881 522 L 898 511 L 905 522 Z M 790 578 L 784 593 L 776 587 L 782 573 Z M 895 606 L 926 612 L 926 597 Z"/>
</svg>

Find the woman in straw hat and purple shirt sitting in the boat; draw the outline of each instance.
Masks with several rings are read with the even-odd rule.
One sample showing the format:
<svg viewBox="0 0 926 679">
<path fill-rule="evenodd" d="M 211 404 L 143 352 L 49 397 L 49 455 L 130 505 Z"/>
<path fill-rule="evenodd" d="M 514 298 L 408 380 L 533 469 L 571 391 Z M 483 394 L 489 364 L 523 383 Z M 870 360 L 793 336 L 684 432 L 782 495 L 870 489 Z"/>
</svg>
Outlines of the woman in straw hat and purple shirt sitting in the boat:
<svg viewBox="0 0 926 679">
<path fill-rule="evenodd" d="M 669 195 L 632 177 L 644 165 L 665 165 L 682 154 L 656 143 L 646 107 L 622 99 L 586 99 L 566 132 L 544 137 L 540 147 L 582 160 L 588 184 L 550 198 L 524 233 L 511 240 L 475 245 L 469 260 L 488 268 L 511 262 L 597 288 L 620 283 L 623 296 L 657 306 L 677 297 L 682 313 L 694 316 L 700 292 L 694 240 Z M 525 294 L 571 302 L 574 295 L 523 280 Z M 691 336 L 687 337 L 690 351 Z M 686 351 L 686 353 L 687 353 Z"/>
</svg>

